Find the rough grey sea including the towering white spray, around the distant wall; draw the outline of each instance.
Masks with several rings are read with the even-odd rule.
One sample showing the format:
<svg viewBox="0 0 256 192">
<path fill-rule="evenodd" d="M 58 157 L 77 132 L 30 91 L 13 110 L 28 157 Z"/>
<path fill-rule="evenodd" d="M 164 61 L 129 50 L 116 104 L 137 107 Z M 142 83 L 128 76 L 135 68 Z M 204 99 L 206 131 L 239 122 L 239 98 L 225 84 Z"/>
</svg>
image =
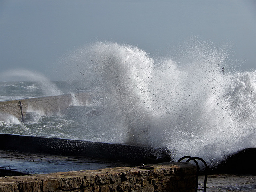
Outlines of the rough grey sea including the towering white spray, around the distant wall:
<svg viewBox="0 0 256 192">
<path fill-rule="evenodd" d="M 53 70 L 63 80 L 1 73 L 1 101 L 78 92 L 92 100 L 65 114 L 30 112 L 25 123 L 1 113 L 0 133 L 164 147 L 174 160 L 198 156 L 215 166 L 256 148 L 256 70 L 236 70 L 231 55 L 209 42 L 189 42 L 170 58 L 98 42 L 59 59 Z"/>
</svg>

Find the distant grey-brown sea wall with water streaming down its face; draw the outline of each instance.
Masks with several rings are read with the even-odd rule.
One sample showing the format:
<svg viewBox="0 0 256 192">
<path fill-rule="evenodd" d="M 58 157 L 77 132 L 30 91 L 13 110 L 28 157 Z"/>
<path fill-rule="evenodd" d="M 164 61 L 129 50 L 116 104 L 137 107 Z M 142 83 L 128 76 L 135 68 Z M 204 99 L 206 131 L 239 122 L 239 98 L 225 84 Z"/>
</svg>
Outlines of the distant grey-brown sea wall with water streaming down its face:
<svg viewBox="0 0 256 192">
<path fill-rule="evenodd" d="M 0 102 L 0 112 L 10 114 L 22 122 L 22 114 L 37 112 L 40 115 L 52 116 L 65 114 L 68 106 L 72 104 L 86 105 L 90 100 L 88 93 L 46 96 L 38 98 L 28 98 L 20 100 L 10 100 Z"/>
</svg>

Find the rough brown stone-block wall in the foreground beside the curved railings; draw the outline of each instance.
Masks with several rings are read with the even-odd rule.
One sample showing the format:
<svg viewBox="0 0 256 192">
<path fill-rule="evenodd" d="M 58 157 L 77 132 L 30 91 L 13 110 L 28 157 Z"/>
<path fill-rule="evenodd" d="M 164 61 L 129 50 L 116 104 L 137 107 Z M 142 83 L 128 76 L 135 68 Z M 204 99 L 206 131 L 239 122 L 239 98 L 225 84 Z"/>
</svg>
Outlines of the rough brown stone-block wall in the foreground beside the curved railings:
<svg viewBox="0 0 256 192">
<path fill-rule="evenodd" d="M 194 192 L 196 166 L 183 162 L 0 177 L 1 192 Z"/>
</svg>

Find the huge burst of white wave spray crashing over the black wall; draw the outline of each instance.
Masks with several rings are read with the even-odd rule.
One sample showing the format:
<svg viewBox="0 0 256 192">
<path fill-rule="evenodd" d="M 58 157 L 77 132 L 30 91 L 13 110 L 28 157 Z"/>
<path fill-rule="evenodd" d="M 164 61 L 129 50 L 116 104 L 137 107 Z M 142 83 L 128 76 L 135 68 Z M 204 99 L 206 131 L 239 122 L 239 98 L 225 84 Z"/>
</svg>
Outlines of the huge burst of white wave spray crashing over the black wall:
<svg viewBox="0 0 256 192">
<path fill-rule="evenodd" d="M 96 43 L 69 62 L 72 76 L 108 110 L 114 142 L 164 146 L 175 158 L 208 162 L 256 147 L 255 71 L 232 72 L 226 48 L 205 42 L 183 51 L 176 61 L 155 62 L 134 46 Z"/>
</svg>

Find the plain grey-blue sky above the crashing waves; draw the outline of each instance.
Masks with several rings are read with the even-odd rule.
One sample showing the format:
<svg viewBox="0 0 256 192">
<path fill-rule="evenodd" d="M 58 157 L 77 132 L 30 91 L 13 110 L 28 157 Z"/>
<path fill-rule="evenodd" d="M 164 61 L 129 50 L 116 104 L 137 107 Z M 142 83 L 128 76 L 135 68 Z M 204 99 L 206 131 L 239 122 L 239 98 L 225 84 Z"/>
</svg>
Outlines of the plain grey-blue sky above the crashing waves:
<svg viewBox="0 0 256 192">
<path fill-rule="evenodd" d="M 0 70 L 53 78 L 70 50 L 98 41 L 168 57 L 186 38 L 233 44 L 241 70 L 256 68 L 256 0 L 0 0 Z"/>
</svg>

